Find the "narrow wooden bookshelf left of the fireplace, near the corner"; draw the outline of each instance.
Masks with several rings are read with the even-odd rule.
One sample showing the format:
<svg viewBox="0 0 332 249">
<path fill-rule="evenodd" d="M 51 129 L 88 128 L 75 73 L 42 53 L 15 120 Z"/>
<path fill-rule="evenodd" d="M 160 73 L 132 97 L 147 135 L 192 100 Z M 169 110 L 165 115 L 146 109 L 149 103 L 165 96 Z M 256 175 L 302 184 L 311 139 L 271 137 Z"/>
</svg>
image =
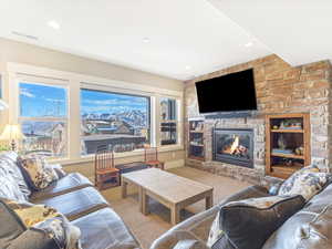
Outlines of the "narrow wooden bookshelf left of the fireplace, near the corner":
<svg viewBox="0 0 332 249">
<path fill-rule="evenodd" d="M 205 160 L 204 120 L 190 118 L 188 129 L 188 158 Z"/>
</svg>

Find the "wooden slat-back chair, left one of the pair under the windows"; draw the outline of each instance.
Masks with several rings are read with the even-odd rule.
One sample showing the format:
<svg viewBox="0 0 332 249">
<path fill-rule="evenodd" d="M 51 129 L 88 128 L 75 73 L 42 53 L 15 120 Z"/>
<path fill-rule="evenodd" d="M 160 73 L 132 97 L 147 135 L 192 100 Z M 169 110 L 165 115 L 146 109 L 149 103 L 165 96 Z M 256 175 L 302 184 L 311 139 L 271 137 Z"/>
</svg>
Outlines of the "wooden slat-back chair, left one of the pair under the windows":
<svg viewBox="0 0 332 249">
<path fill-rule="evenodd" d="M 114 166 L 111 151 L 97 151 L 94 159 L 95 186 L 100 189 L 120 186 L 120 170 Z"/>
</svg>

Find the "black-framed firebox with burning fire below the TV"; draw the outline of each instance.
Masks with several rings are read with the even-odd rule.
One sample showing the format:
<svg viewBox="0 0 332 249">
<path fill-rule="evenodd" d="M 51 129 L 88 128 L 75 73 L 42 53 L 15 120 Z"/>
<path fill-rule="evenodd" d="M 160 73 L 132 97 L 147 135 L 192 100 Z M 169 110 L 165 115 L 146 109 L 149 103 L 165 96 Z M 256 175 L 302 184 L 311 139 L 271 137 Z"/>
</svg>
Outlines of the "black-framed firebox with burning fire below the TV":
<svg viewBox="0 0 332 249">
<path fill-rule="evenodd" d="M 214 128 L 214 160 L 253 168 L 253 131 Z"/>
</svg>

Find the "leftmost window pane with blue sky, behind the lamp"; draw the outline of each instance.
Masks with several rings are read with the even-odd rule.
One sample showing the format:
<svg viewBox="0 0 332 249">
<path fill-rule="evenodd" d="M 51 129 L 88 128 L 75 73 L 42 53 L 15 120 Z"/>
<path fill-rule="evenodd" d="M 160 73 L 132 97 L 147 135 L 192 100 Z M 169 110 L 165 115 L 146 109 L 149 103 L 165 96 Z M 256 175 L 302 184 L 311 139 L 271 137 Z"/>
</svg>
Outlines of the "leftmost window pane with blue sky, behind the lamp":
<svg viewBox="0 0 332 249">
<path fill-rule="evenodd" d="M 68 91 L 65 87 L 22 82 L 20 123 L 24 153 L 65 157 L 68 154 Z"/>
</svg>

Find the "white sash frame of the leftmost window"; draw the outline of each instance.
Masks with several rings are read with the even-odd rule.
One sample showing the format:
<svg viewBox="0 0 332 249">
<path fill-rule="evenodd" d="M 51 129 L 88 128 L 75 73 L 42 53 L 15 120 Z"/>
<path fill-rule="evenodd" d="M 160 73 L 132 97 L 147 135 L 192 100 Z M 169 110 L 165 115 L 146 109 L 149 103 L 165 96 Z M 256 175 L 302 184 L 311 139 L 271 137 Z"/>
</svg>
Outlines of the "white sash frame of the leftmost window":
<svg viewBox="0 0 332 249">
<path fill-rule="evenodd" d="M 21 97 L 20 97 L 20 84 L 25 83 L 25 84 L 33 84 L 33 85 L 44 85 L 44 86 L 50 86 L 50 87 L 58 87 L 58 89 L 64 89 L 65 90 L 65 112 L 66 116 L 63 117 L 28 117 L 28 116 L 21 116 Z M 71 157 L 70 155 L 70 87 L 69 84 L 65 81 L 59 81 L 54 79 L 48 79 L 48 77 L 40 77 L 40 76 L 18 76 L 17 77 L 17 83 L 15 83 L 15 89 L 17 89 L 17 121 L 19 124 L 22 124 L 23 122 L 59 122 L 59 123 L 64 123 L 65 124 L 65 129 L 66 129 L 66 149 L 63 156 L 51 156 L 50 159 L 69 159 Z M 29 152 L 28 152 L 29 153 Z"/>
</svg>

